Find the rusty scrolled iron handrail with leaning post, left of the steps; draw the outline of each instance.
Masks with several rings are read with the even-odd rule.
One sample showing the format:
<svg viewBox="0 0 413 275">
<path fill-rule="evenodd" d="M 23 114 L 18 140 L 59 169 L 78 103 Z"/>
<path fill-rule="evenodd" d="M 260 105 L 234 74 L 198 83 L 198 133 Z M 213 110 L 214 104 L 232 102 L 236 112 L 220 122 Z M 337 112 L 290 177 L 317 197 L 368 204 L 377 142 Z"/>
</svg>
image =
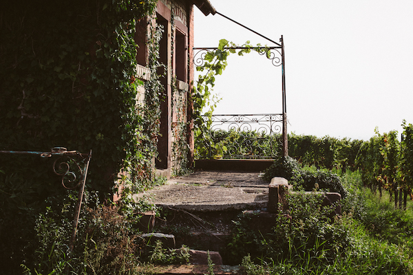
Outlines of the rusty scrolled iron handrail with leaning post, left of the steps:
<svg viewBox="0 0 413 275">
<path fill-rule="evenodd" d="M 76 239 L 76 230 L 79 216 L 81 214 L 81 205 L 83 201 L 83 192 L 85 191 L 85 183 L 89 162 L 92 158 L 92 150 L 89 153 L 79 153 L 78 151 L 67 151 L 64 147 L 54 147 L 50 152 L 36 151 L 0 151 L 2 154 L 19 154 L 19 155 L 40 155 L 40 157 L 56 157 L 53 162 L 53 172 L 61 176 L 61 184 L 67 190 L 78 188 L 78 200 L 73 219 L 72 236 L 70 236 L 69 248 L 73 251 L 74 240 Z M 81 167 L 83 163 L 83 168 Z M 78 175 L 80 175 L 78 177 Z"/>
</svg>

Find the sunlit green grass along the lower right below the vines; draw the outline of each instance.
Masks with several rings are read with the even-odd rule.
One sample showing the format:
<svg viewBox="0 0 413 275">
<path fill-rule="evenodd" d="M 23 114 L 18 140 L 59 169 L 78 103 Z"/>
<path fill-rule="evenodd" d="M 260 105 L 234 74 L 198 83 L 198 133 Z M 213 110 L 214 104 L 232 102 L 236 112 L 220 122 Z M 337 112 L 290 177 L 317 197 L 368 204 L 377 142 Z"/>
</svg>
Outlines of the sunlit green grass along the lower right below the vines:
<svg viewBox="0 0 413 275">
<path fill-rule="evenodd" d="M 358 172 L 341 178 L 349 195 L 342 201 L 343 217 L 332 226 L 346 232 L 334 238 L 346 236 L 348 246 L 339 250 L 316 241 L 301 250 L 303 245 L 294 243 L 281 258 L 246 256 L 247 274 L 413 274 L 412 201 L 407 210 L 395 210 L 388 192 L 380 199 L 378 192 L 363 188 Z"/>
</svg>

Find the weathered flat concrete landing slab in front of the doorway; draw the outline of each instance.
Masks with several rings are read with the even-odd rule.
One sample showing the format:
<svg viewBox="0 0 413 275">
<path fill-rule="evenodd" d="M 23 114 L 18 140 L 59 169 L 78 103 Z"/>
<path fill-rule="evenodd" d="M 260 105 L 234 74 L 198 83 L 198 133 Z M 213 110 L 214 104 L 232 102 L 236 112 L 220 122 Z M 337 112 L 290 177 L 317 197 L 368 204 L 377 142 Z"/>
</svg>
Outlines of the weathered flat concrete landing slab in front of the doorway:
<svg viewBox="0 0 413 275">
<path fill-rule="evenodd" d="M 157 206 L 191 212 L 260 209 L 268 204 L 268 182 L 260 173 L 198 171 L 139 196 Z"/>
</svg>

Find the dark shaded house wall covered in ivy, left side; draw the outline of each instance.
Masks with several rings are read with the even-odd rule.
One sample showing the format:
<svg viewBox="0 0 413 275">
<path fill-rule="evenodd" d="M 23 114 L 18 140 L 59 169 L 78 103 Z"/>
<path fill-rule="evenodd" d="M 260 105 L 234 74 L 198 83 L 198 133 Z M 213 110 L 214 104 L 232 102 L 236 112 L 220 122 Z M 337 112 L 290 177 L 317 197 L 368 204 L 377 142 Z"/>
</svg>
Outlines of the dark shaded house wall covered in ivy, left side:
<svg viewBox="0 0 413 275">
<path fill-rule="evenodd" d="M 145 83 L 136 78 L 134 35 L 136 23 L 153 15 L 156 0 L 0 5 L 0 150 L 92 149 L 92 188 L 112 192 L 120 168 L 145 185 L 156 156 L 162 33 L 149 21 L 151 78 Z M 136 100 L 141 85 L 145 104 Z M 0 170 L 7 177 L 26 175 L 30 188 L 47 196 L 59 181 L 50 161 L 39 159 L 0 155 Z"/>
</svg>

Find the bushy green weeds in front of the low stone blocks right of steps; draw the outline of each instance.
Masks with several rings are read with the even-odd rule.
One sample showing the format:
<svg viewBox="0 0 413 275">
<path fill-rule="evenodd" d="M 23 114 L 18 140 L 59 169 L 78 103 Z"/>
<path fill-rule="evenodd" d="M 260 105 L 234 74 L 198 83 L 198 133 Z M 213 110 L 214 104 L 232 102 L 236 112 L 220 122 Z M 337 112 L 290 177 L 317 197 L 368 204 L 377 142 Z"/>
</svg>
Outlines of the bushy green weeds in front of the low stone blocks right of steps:
<svg viewBox="0 0 413 275">
<path fill-rule="evenodd" d="M 317 256 L 324 254 L 328 261 L 346 250 L 350 245 L 348 228 L 344 221 L 326 218 L 334 208 L 321 206 L 322 200 L 323 195 L 315 193 L 288 196 L 289 217 L 279 215 L 274 228 L 271 247 L 277 255 L 300 261 L 310 256 L 317 261 Z"/>
</svg>

